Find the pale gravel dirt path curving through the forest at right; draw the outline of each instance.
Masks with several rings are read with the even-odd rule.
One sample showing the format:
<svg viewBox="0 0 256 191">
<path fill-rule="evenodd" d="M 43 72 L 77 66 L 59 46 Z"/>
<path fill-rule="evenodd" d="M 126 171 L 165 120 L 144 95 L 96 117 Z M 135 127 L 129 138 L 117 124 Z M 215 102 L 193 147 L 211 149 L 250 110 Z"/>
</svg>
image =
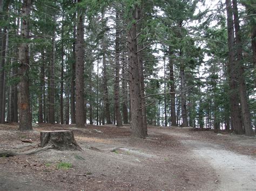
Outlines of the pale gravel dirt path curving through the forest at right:
<svg viewBox="0 0 256 191">
<path fill-rule="evenodd" d="M 193 151 L 195 158 L 207 161 L 217 173 L 218 179 L 215 182 L 218 183 L 218 190 L 256 190 L 255 158 L 225 150 L 218 144 L 194 140 L 184 131 L 178 133 L 160 131 L 179 137 L 181 143 Z M 254 146 L 256 146 L 255 142 Z"/>
</svg>

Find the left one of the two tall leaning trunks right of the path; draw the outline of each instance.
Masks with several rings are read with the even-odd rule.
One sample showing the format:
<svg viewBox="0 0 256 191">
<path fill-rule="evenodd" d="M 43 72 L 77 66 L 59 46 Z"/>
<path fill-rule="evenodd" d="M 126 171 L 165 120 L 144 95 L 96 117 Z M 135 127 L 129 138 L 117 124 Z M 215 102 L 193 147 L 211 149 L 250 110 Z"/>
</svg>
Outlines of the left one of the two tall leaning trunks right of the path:
<svg viewBox="0 0 256 191">
<path fill-rule="evenodd" d="M 234 64 L 234 29 L 231 0 L 226 0 L 227 6 L 227 33 L 228 33 L 228 73 L 230 77 L 230 109 L 231 122 L 236 134 L 244 134 L 242 129 L 241 112 L 238 96 L 238 75 Z"/>
</svg>

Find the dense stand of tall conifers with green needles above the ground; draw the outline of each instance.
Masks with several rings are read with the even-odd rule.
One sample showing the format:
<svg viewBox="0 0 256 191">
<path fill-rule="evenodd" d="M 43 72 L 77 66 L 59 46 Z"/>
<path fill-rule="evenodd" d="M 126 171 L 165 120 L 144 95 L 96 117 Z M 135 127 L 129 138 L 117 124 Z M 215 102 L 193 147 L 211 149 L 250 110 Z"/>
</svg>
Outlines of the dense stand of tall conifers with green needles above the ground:
<svg viewBox="0 0 256 191">
<path fill-rule="evenodd" d="M 4 0 L 0 123 L 254 136 L 254 0 Z"/>
</svg>

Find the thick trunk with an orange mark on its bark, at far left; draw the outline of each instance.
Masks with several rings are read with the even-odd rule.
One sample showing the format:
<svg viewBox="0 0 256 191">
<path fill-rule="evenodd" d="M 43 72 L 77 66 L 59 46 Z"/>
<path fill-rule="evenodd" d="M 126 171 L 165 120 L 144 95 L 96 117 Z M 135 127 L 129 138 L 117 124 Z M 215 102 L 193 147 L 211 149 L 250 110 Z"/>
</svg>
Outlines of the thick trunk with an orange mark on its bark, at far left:
<svg viewBox="0 0 256 191">
<path fill-rule="evenodd" d="M 21 37 L 23 40 L 29 38 L 29 17 L 31 11 L 31 0 L 24 0 L 22 4 L 22 26 Z M 20 82 L 18 83 L 18 111 L 19 111 L 19 130 L 32 130 L 32 116 L 30 112 L 29 97 L 29 46 L 22 43 L 19 47 L 19 66 Z"/>
</svg>

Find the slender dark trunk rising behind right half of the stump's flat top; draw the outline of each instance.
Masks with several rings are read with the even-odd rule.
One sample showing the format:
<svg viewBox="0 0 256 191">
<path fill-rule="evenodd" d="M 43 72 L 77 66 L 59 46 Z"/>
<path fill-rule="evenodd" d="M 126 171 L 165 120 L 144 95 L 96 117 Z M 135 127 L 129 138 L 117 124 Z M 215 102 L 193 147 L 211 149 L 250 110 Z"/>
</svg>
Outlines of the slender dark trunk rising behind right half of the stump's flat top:
<svg viewBox="0 0 256 191">
<path fill-rule="evenodd" d="M 64 118 L 63 118 L 63 80 L 64 80 L 64 42 L 63 42 L 63 36 L 64 36 L 64 24 L 62 24 L 62 62 L 61 62 L 61 74 L 60 74 L 60 124 L 64 124 Z"/>
</svg>

